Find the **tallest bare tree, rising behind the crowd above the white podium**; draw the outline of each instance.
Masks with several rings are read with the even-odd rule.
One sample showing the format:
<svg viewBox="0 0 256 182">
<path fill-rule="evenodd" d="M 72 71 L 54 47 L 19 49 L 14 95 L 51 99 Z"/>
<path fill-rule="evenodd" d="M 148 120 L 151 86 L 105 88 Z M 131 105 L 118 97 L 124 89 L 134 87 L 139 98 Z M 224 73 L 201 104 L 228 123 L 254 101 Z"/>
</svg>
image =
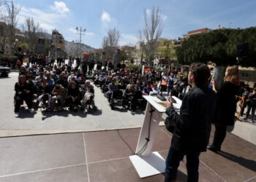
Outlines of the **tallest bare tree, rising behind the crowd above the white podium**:
<svg viewBox="0 0 256 182">
<path fill-rule="evenodd" d="M 139 37 L 145 44 L 146 62 L 153 66 L 154 55 L 159 45 L 158 39 L 162 34 L 163 17 L 158 7 L 157 9 L 153 7 L 150 13 L 145 9 L 143 15 L 145 25 L 143 30 L 139 30 Z"/>
</svg>

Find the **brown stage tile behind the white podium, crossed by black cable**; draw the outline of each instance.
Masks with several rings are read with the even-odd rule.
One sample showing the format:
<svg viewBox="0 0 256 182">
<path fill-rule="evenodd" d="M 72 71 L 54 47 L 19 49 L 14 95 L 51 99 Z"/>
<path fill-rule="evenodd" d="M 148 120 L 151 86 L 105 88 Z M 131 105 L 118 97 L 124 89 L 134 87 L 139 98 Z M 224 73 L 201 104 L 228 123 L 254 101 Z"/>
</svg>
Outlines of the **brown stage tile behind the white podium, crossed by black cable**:
<svg viewBox="0 0 256 182">
<path fill-rule="evenodd" d="M 132 148 L 132 151 L 135 152 L 140 135 L 140 128 L 119 130 L 119 133 L 124 141 L 126 141 Z M 105 132 L 85 132 L 84 136 L 88 162 L 129 157 L 132 155 L 132 151 L 124 141 L 121 140 L 116 130 Z M 170 137 L 160 129 L 157 132 L 156 141 L 157 142 L 154 143 L 152 151 L 163 151 L 169 149 Z"/>
</svg>

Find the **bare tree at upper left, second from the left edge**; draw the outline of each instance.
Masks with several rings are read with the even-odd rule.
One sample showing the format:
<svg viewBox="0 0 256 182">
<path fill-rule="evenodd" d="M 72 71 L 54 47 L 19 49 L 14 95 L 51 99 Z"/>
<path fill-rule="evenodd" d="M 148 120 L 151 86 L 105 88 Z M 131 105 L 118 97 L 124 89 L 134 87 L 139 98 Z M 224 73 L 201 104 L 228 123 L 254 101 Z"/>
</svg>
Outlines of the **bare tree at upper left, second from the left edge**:
<svg viewBox="0 0 256 182">
<path fill-rule="evenodd" d="M 26 17 L 25 23 L 22 25 L 23 34 L 29 50 L 36 50 L 37 46 L 37 31 L 39 31 L 39 23 L 35 23 L 33 17 Z"/>
</svg>

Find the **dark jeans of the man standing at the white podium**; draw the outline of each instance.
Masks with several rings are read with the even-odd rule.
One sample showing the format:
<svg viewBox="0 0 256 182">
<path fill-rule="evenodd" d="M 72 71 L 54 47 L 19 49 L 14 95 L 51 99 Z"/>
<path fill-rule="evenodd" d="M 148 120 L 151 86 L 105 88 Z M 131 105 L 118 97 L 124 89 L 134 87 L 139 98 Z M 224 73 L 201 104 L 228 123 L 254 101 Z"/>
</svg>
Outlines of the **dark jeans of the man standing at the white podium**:
<svg viewBox="0 0 256 182">
<path fill-rule="evenodd" d="M 165 182 L 176 181 L 179 162 L 187 156 L 187 181 L 198 181 L 198 166 L 200 151 L 187 150 L 184 152 L 169 149 L 165 164 Z"/>
</svg>

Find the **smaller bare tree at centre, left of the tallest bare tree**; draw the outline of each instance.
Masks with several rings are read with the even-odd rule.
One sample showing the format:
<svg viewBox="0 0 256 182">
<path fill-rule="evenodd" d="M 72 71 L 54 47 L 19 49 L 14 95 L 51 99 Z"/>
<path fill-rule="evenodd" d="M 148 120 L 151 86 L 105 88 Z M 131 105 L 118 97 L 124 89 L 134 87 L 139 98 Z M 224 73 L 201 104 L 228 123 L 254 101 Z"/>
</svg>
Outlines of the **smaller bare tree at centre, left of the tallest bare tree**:
<svg viewBox="0 0 256 182">
<path fill-rule="evenodd" d="M 103 37 L 102 48 L 108 55 L 108 57 L 113 58 L 116 47 L 118 47 L 118 41 L 120 39 L 120 32 L 116 28 L 109 28 L 107 36 Z"/>
</svg>

